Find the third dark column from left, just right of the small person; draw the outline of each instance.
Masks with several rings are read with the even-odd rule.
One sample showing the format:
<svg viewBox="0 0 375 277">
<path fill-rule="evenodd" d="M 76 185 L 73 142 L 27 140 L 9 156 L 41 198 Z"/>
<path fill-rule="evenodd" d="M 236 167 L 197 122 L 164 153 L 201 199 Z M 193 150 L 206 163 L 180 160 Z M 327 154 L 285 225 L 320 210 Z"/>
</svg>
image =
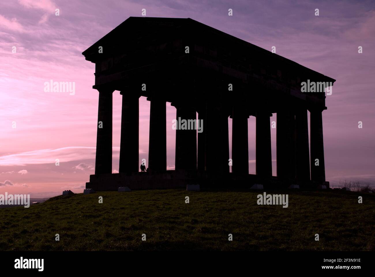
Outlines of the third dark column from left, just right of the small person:
<svg viewBox="0 0 375 277">
<path fill-rule="evenodd" d="M 151 100 L 148 168 L 150 170 L 166 170 L 165 100 L 158 99 L 157 97 L 147 98 L 147 100 Z"/>
</svg>

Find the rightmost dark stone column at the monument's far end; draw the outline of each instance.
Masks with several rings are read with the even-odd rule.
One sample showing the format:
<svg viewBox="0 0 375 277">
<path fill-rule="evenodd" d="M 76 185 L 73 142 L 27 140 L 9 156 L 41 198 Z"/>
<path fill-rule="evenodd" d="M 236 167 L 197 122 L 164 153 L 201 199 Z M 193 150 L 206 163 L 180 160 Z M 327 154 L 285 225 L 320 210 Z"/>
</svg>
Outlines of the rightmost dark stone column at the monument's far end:
<svg viewBox="0 0 375 277">
<path fill-rule="evenodd" d="M 324 169 L 323 149 L 323 109 L 310 110 L 310 154 L 311 154 L 311 181 L 326 181 L 326 170 Z M 315 166 L 319 161 L 319 166 Z"/>
</svg>

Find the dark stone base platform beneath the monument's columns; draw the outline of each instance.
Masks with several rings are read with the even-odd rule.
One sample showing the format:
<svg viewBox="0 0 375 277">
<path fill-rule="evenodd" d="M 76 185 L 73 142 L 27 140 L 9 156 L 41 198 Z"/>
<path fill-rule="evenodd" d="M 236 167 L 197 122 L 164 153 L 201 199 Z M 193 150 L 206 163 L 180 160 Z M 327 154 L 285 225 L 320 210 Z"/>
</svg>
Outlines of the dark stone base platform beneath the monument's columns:
<svg viewBox="0 0 375 277">
<path fill-rule="evenodd" d="M 254 174 L 208 173 L 197 170 L 164 170 L 154 172 L 111 173 L 90 175 L 86 188 L 95 191 L 117 191 L 119 187 L 130 190 L 155 190 L 182 188 L 186 185 L 200 185 L 205 189 L 247 189 L 254 184 L 263 185 L 264 190 L 287 189 L 298 184 L 300 189 L 318 189 L 319 185 L 329 188 L 329 182 L 299 182 L 295 179 L 279 179 L 276 176 L 261 177 Z"/>
</svg>

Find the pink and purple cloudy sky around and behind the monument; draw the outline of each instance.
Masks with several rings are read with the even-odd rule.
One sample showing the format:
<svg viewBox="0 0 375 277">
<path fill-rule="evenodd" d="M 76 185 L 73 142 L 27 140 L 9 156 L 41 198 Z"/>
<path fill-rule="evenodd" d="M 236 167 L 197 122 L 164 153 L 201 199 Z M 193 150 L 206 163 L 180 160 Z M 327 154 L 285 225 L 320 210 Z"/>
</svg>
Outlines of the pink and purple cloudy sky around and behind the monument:
<svg viewBox="0 0 375 277">
<path fill-rule="evenodd" d="M 81 53 L 142 9 L 147 17 L 190 17 L 269 51 L 275 46 L 277 54 L 336 79 L 323 112 L 326 179 L 375 184 L 375 2 L 14 0 L 0 3 L 0 193 L 83 191 L 95 166 L 98 92 L 94 64 Z M 51 79 L 75 82 L 75 95 L 44 92 Z M 113 96 L 118 170 L 121 96 Z M 141 98 L 140 160 L 148 158 L 149 107 Z M 168 169 L 174 168 L 174 118 L 167 103 Z M 276 129 L 271 132 L 276 175 Z M 249 160 L 255 173 L 254 117 Z"/>
</svg>

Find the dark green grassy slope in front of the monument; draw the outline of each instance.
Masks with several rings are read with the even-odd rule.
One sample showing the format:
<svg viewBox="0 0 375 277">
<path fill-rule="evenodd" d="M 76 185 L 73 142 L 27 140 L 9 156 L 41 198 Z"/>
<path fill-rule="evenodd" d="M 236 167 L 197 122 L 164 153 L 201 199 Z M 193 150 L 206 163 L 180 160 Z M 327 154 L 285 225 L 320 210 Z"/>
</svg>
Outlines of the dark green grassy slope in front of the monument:
<svg viewBox="0 0 375 277">
<path fill-rule="evenodd" d="M 0 209 L 0 250 L 374 250 L 372 194 L 285 191 L 289 207 L 282 208 L 257 205 L 259 193 L 58 196 L 30 208 Z"/>
</svg>

